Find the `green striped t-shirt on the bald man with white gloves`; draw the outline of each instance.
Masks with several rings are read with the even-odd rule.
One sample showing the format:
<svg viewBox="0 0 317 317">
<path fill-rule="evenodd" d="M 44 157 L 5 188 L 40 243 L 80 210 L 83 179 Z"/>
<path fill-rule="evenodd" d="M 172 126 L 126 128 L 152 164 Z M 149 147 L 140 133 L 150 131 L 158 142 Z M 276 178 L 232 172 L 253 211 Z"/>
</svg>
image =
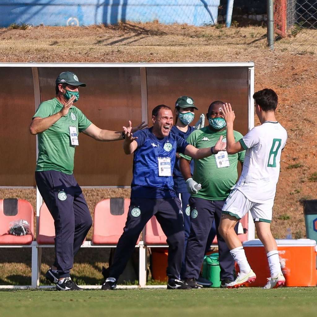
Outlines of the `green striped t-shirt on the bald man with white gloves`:
<svg viewBox="0 0 317 317">
<path fill-rule="evenodd" d="M 214 146 L 223 136 L 226 138 L 227 131 L 214 132 L 209 126 L 200 130 L 195 130 L 187 138 L 187 142 L 197 149 Z M 237 131 L 233 132 L 235 140 L 238 141 L 243 138 L 243 135 Z M 184 154 L 179 154 L 185 159 L 191 160 L 191 157 Z M 200 197 L 209 200 L 225 200 L 229 194 L 231 187 L 236 184 L 238 178 L 237 163 L 238 160 L 244 161 L 245 151 L 229 155 L 228 167 L 217 167 L 214 155 L 204 159 L 194 159 L 195 167 L 193 179 L 201 184 L 201 189 L 192 197 Z"/>
</svg>

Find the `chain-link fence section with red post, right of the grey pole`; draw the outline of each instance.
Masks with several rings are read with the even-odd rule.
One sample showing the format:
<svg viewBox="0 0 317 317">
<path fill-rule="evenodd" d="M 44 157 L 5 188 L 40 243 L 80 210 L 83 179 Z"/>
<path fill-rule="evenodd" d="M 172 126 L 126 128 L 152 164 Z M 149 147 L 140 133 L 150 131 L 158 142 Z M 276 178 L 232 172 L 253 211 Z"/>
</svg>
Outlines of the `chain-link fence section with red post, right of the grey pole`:
<svg viewBox="0 0 317 317">
<path fill-rule="evenodd" d="M 317 0 L 275 0 L 275 48 L 317 54 Z"/>
</svg>

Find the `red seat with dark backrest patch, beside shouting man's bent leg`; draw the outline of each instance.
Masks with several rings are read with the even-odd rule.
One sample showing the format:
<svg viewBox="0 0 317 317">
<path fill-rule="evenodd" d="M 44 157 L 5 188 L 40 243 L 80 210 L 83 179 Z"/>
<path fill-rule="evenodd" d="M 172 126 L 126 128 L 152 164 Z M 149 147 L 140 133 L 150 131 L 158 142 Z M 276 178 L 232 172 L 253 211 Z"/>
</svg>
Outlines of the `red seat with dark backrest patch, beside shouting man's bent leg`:
<svg viewBox="0 0 317 317">
<path fill-rule="evenodd" d="M 94 244 L 117 244 L 129 212 L 129 198 L 101 200 L 94 210 Z M 140 237 L 137 241 L 139 243 Z"/>
</svg>

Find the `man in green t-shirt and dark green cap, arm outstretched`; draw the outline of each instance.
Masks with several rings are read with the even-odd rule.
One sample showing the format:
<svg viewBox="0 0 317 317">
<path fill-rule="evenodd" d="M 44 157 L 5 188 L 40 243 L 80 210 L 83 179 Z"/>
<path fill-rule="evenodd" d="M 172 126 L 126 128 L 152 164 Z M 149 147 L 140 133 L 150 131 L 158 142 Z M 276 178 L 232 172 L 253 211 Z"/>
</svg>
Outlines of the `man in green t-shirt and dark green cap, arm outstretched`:
<svg viewBox="0 0 317 317">
<path fill-rule="evenodd" d="M 57 290 L 81 290 L 69 272 L 92 225 L 86 200 L 73 175 L 78 134 L 83 132 L 97 141 L 124 139 L 123 131 L 98 128 L 74 106 L 79 86 L 86 84 L 74 73 L 61 73 L 56 79 L 56 97 L 39 105 L 30 125 L 30 133 L 38 136 L 36 185 L 55 225 L 55 262 L 45 276 Z M 144 127 L 142 122 L 132 131 Z"/>
</svg>

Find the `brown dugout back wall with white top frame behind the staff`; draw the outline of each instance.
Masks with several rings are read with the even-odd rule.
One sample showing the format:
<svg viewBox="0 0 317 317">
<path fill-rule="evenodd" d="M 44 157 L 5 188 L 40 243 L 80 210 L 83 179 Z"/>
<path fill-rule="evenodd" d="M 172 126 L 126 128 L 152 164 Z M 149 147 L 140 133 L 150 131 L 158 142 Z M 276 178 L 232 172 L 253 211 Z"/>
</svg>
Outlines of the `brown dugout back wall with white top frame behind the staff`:
<svg viewBox="0 0 317 317">
<path fill-rule="evenodd" d="M 0 63 L 5 81 L 0 92 L 0 186 L 35 186 L 36 137 L 29 124 L 38 101 L 55 97 L 55 79 L 73 71 L 87 87 L 80 87 L 75 104 L 96 126 L 122 130 L 128 120 L 151 126 L 158 104 L 174 108 L 181 95 L 195 100 L 206 113 L 214 100 L 230 102 L 236 113 L 235 130 L 254 125 L 254 63 L 129 63 L 35 64 Z M 195 122 L 194 120 L 194 122 Z M 208 122 L 205 122 L 208 124 Z M 74 175 L 82 186 L 129 186 L 132 156 L 122 141 L 97 142 L 84 134 L 76 148 Z"/>
</svg>

